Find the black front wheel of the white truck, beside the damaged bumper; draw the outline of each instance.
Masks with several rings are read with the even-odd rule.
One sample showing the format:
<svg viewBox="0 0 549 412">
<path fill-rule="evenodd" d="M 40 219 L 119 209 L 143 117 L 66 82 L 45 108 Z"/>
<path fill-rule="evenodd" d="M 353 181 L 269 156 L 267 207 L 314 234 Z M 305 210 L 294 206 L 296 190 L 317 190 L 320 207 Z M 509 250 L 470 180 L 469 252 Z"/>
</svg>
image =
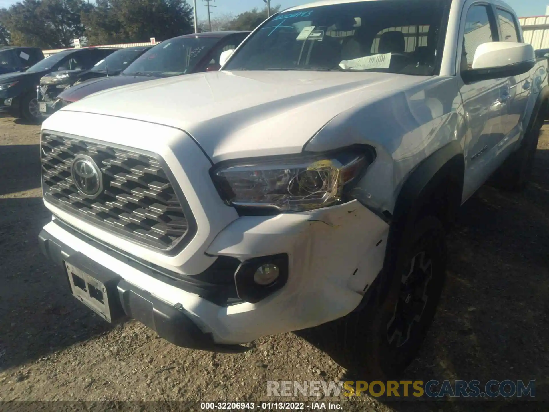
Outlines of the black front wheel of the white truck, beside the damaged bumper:
<svg viewBox="0 0 549 412">
<path fill-rule="evenodd" d="M 427 216 L 404 236 L 388 292 L 343 318 L 344 358 L 361 376 L 396 378 L 416 357 L 433 322 L 446 274 L 446 233 Z"/>
</svg>

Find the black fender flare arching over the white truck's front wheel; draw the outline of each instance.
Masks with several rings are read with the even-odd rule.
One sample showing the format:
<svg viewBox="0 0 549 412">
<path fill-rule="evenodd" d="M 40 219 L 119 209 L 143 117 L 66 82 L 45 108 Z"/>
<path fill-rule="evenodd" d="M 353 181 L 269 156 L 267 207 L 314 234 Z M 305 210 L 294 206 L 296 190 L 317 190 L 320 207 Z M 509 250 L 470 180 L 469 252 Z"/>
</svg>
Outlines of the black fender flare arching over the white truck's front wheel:
<svg viewBox="0 0 549 412">
<path fill-rule="evenodd" d="M 406 237 L 412 233 L 414 222 L 421 216 L 437 188 L 445 181 L 451 183 L 449 187 L 452 195 L 450 214 L 455 216 L 457 213 L 463 194 L 464 168 L 465 160 L 461 144 L 452 141 L 423 160 L 402 185 L 391 220 L 383 269 L 373 291 L 375 296 L 369 295 L 374 298 L 373 300 L 376 300 L 377 304 L 384 301 L 390 290 L 393 282 L 392 275 L 399 264 L 398 259 L 402 255 L 402 246 L 406 244 Z M 453 216 L 449 217 L 453 220 Z"/>
</svg>

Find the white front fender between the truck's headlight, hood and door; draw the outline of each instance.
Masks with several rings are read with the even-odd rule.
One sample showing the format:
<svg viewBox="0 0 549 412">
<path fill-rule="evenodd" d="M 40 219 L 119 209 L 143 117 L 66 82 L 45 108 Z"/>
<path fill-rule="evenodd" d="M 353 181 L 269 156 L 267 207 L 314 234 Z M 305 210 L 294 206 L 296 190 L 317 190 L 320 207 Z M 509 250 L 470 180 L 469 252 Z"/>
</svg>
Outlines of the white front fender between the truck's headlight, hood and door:
<svg viewBox="0 0 549 412">
<path fill-rule="evenodd" d="M 456 79 L 432 77 L 375 103 L 345 110 L 304 150 L 324 152 L 353 144 L 374 147 L 376 160 L 351 196 L 378 214 L 393 214 L 408 175 L 451 142 L 462 153 L 465 131 Z"/>
</svg>

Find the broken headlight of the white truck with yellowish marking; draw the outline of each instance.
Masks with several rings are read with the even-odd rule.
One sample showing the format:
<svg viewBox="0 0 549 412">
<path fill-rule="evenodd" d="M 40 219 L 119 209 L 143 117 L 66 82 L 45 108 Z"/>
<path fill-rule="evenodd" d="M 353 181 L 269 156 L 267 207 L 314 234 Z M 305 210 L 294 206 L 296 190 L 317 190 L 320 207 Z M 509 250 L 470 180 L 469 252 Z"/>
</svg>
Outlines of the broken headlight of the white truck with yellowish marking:
<svg viewBox="0 0 549 412">
<path fill-rule="evenodd" d="M 304 211 L 341 202 L 345 188 L 373 162 L 375 152 L 345 151 L 240 163 L 212 171 L 223 197 L 236 207 Z"/>
</svg>

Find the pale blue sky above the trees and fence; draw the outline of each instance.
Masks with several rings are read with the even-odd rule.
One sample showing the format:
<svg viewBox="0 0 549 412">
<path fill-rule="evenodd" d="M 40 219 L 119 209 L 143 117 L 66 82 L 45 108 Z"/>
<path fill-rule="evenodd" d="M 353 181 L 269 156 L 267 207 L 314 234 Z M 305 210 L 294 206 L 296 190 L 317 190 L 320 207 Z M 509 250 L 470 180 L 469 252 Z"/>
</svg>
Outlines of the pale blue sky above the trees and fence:
<svg viewBox="0 0 549 412">
<path fill-rule="evenodd" d="M 192 4 L 192 0 L 187 1 Z M 292 5 L 309 3 L 310 1 L 311 0 L 271 0 L 271 4 L 280 4 L 282 8 L 286 8 L 291 7 Z M 13 3 L 15 3 L 14 0 L 0 0 L 0 7 L 8 7 Z M 520 17 L 537 16 L 545 14 L 545 8 L 546 5 L 549 4 L 549 0 L 507 0 L 507 3 L 515 9 Z M 206 3 L 203 0 L 197 0 L 197 14 L 200 20 L 206 18 L 205 4 Z M 211 4 L 217 6 L 212 8 L 213 16 L 226 13 L 238 14 L 251 8 L 265 5 L 263 0 L 215 0 Z"/>
</svg>

